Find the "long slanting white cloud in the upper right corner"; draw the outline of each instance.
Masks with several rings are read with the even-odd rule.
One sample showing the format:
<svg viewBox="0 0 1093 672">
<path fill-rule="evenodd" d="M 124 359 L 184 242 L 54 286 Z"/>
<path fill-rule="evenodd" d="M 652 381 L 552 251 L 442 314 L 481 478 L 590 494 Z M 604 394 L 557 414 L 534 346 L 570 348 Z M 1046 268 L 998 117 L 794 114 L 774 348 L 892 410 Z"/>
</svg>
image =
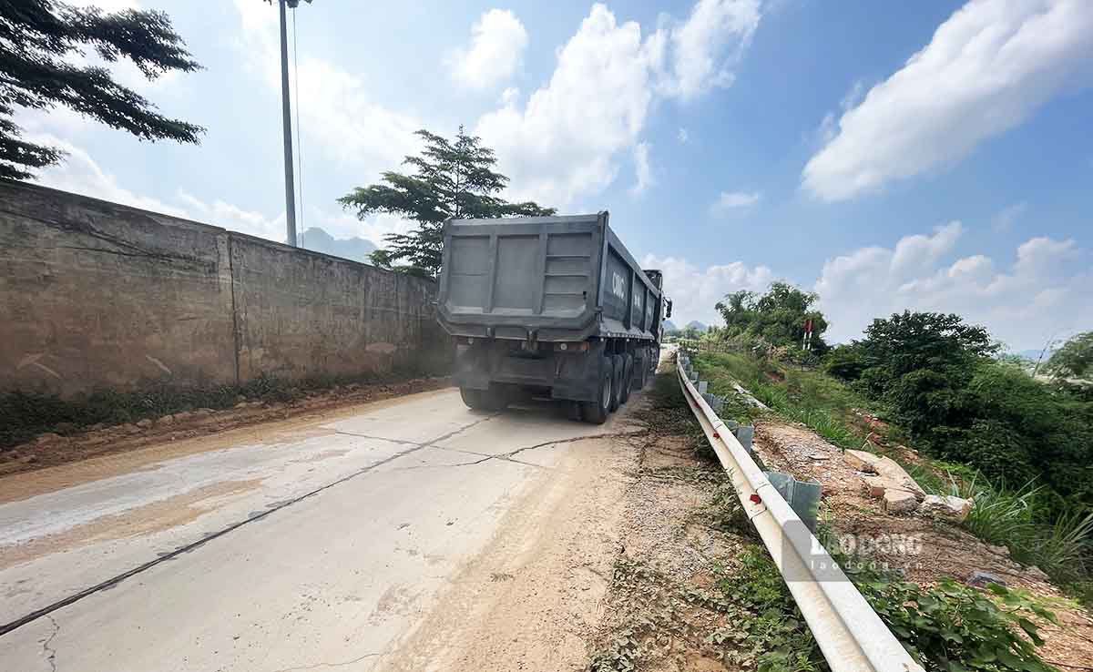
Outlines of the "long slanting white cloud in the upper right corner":
<svg viewBox="0 0 1093 672">
<path fill-rule="evenodd" d="M 865 99 L 827 123 L 804 187 L 836 201 L 952 164 L 1089 82 L 1093 3 L 972 0 Z M 822 127 L 824 125 L 821 125 Z"/>
</svg>

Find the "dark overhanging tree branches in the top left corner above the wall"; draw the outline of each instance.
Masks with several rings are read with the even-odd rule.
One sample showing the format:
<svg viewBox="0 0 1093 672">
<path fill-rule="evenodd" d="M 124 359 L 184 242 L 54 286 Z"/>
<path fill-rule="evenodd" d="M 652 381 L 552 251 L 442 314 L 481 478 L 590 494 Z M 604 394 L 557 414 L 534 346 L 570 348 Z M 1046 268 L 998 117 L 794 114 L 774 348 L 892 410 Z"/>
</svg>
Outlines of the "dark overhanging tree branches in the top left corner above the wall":
<svg viewBox="0 0 1093 672">
<path fill-rule="evenodd" d="M 150 80 L 200 68 L 163 12 L 104 13 L 54 0 L 0 0 L 0 177 L 33 177 L 30 169 L 63 156 L 55 146 L 22 140 L 12 120 L 16 107 L 68 107 L 142 140 L 198 142 L 201 127 L 156 113 L 106 68 L 71 62 L 85 48 L 108 63 L 127 58 Z"/>
</svg>

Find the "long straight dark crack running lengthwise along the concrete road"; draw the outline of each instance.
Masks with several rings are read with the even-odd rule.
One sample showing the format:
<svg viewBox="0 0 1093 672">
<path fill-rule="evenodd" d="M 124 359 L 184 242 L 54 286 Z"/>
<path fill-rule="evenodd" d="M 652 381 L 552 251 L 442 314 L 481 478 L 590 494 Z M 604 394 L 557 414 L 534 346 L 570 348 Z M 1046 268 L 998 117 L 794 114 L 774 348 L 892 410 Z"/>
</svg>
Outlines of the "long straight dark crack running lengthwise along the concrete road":
<svg viewBox="0 0 1093 672">
<path fill-rule="evenodd" d="M 156 557 L 155 559 L 151 559 L 151 561 L 149 561 L 149 562 L 146 562 L 146 563 L 144 563 L 142 565 L 138 565 L 137 567 L 133 567 L 132 569 L 129 569 L 128 571 L 124 571 L 122 574 L 119 574 L 117 576 L 108 578 L 105 581 L 102 581 L 101 583 L 96 583 L 94 586 L 91 586 L 90 588 L 84 588 L 83 590 L 81 590 L 79 592 L 74 592 L 74 593 L 72 593 L 72 594 L 70 594 L 70 596 L 68 596 L 66 598 L 61 598 L 60 600 L 57 600 L 52 604 L 48 604 L 46 606 L 43 606 L 42 609 L 37 609 L 37 610 L 35 610 L 35 611 L 33 611 L 33 612 L 31 612 L 28 614 L 25 614 L 24 616 L 15 618 L 14 621 L 12 621 L 10 623 L 5 623 L 3 625 L 0 625 L 0 637 L 2 637 L 3 635 L 7 635 L 8 633 L 10 633 L 10 632 L 12 632 L 12 630 L 14 630 L 16 628 L 23 627 L 24 625 L 26 625 L 28 623 L 33 623 L 34 621 L 37 621 L 38 618 L 42 618 L 43 616 L 48 616 L 50 618 L 50 621 L 52 621 L 52 616 L 49 616 L 49 614 L 51 614 L 52 612 L 57 611 L 58 609 L 63 609 L 64 606 L 69 606 L 70 604 L 79 602 L 80 600 L 82 600 L 82 599 L 84 599 L 86 597 L 93 596 L 96 592 L 101 592 L 103 590 L 108 590 L 110 588 L 114 588 L 115 586 L 117 586 L 118 583 L 120 583 L 121 581 L 124 581 L 124 580 L 126 580 L 126 579 L 128 579 L 130 577 L 133 577 L 133 576 L 136 576 L 138 574 L 141 574 L 143 571 L 146 571 L 146 570 L 151 569 L 152 567 L 155 567 L 156 565 L 158 565 L 161 563 L 167 562 L 169 559 L 174 559 L 174 558 L 178 557 L 179 555 L 183 555 L 184 553 L 189 553 L 190 551 L 193 551 L 193 550 L 196 550 L 196 549 L 198 549 L 200 546 L 203 546 L 204 544 L 209 543 L 210 541 L 212 541 L 214 539 L 219 539 L 219 538 L 221 538 L 221 537 L 223 537 L 223 535 L 225 535 L 225 534 L 227 534 L 230 532 L 234 532 L 235 530 L 242 528 L 245 524 L 249 524 L 251 522 L 256 522 L 258 520 L 262 520 L 263 518 L 267 518 L 268 516 L 271 516 L 272 514 L 274 514 L 277 511 L 280 511 L 281 509 L 287 508 L 287 507 L 290 507 L 290 506 L 292 506 L 292 505 L 294 505 L 294 504 L 296 504 L 298 502 L 303 502 L 304 499 L 313 497 L 313 496 L 315 496 L 315 495 L 317 495 L 317 494 L 319 494 L 319 493 L 321 493 L 321 492 L 324 492 L 326 490 L 329 490 L 329 488 L 331 488 L 331 487 L 333 487 L 336 485 L 341 485 L 342 483 L 344 483 L 344 482 L 346 482 L 346 481 L 349 481 L 351 479 L 355 479 L 356 476 L 360 476 L 361 474 L 368 473 L 369 471 L 373 471 L 374 469 L 383 467 L 384 464 L 392 462 L 392 461 L 395 461 L 395 460 L 397 460 L 397 459 L 399 459 L 401 457 L 406 457 L 406 456 L 408 456 L 408 455 L 410 455 L 412 452 L 416 452 L 418 450 L 421 450 L 422 448 L 428 448 L 430 446 L 432 446 L 433 444 L 436 444 L 437 441 L 447 440 L 447 439 L 449 439 L 449 438 L 451 438 L 454 436 L 457 436 L 458 434 L 461 434 L 461 433 L 463 433 L 463 432 L 466 432 L 466 431 L 468 431 L 468 429 L 470 429 L 472 427 L 475 427 L 475 426 L 478 426 L 478 425 L 480 425 L 480 424 L 482 424 L 484 422 L 493 420 L 494 417 L 496 417 L 496 415 L 497 415 L 496 413 L 492 413 L 490 415 L 486 415 L 485 417 L 481 417 L 479 420 L 475 420 L 472 423 L 463 425 L 463 426 L 459 427 L 458 429 L 454 429 L 453 432 L 449 432 L 449 433 L 447 433 L 447 434 L 445 434 L 443 436 L 438 436 L 438 437 L 436 437 L 436 438 L 434 438 L 434 439 L 432 439 L 432 440 L 430 440 L 427 443 L 424 443 L 424 444 L 411 444 L 411 447 L 408 448 L 408 449 L 406 449 L 406 450 L 401 450 L 401 451 L 396 452 L 396 453 L 393 453 L 393 455 L 391 455 L 389 457 L 384 458 L 383 460 L 379 460 L 377 462 L 373 462 L 372 464 L 368 464 L 367 467 L 363 467 L 363 468 L 361 468 L 361 469 L 359 469 L 359 470 L 356 470 L 356 471 L 354 471 L 352 473 L 349 473 L 349 474 L 346 474 L 346 475 L 344 475 L 344 476 L 342 476 L 340 479 L 337 479 L 337 480 L 334 480 L 334 481 L 332 481 L 330 483 L 327 483 L 326 485 L 321 485 L 319 487 L 316 487 L 315 490 L 312 490 L 312 491 L 308 491 L 308 492 L 304 493 L 303 495 L 299 495 L 299 496 L 294 497 L 292 499 L 287 499 L 285 502 L 282 502 L 280 504 L 278 504 L 277 506 L 274 506 L 273 508 L 267 509 L 267 510 L 261 511 L 259 514 L 255 514 L 252 516 L 249 516 L 248 518 L 245 518 L 245 519 L 243 519 L 243 520 L 240 520 L 238 522 L 234 522 L 234 523 L 232 523 L 232 524 L 230 524 L 230 526 L 227 526 L 225 528 L 222 528 L 222 529 L 220 529 L 220 530 L 218 530 L 215 532 L 211 532 L 209 534 L 205 534 L 204 537 L 202 537 L 201 539 L 199 539 L 197 541 L 193 541 L 193 542 L 190 542 L 188 544 L 178 546 L 177 549 L 175 549 L 171 553 L 166 553 L 164 555 L 161 555 L 161 556 Z M 400 443 L 407 443 L 407 441 L 400 441 Z M 54 623 L 56 624 L 56 621 Z M 56 672 L 56 667 L 54 668 L 52 672 Z"/>
</svg>

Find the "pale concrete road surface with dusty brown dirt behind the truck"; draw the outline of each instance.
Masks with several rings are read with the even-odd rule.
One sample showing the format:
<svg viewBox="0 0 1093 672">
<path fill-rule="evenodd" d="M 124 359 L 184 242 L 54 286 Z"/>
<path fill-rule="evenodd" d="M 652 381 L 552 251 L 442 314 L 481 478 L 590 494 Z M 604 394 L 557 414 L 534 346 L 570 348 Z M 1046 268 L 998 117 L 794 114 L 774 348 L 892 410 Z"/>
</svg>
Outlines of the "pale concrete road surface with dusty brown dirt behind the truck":
<svg viewBox="0 0 1093 672">
<path fill-rule="evenodd" d="M 449 389 L 4 479 L 0 670 L 581 667 L 639 403 Z"/>
</svg>

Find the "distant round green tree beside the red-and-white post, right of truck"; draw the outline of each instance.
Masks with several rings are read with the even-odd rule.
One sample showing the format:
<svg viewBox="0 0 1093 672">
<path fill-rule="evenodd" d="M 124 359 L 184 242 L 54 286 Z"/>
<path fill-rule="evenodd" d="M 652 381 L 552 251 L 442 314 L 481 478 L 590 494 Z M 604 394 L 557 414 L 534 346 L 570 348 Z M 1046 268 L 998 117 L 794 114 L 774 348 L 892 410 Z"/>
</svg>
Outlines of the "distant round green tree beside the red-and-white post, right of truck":
<svg viewBox="0 0 1093 672">
<path fill-rule="evenodd" d="M 811 319 L 812 349 L 823 353 L 827 350 L 823 341 L 827 320 L 813 308 L 818 299 L 814 293 L 775 282 L 762 295 L 747 290 L 728 294 L 716 307 L 725 319 L 722 334 L 726 338 L 759 338 L 771 345 L 799 347 L 804 337 L 804 322 Z"/>
</svg>

